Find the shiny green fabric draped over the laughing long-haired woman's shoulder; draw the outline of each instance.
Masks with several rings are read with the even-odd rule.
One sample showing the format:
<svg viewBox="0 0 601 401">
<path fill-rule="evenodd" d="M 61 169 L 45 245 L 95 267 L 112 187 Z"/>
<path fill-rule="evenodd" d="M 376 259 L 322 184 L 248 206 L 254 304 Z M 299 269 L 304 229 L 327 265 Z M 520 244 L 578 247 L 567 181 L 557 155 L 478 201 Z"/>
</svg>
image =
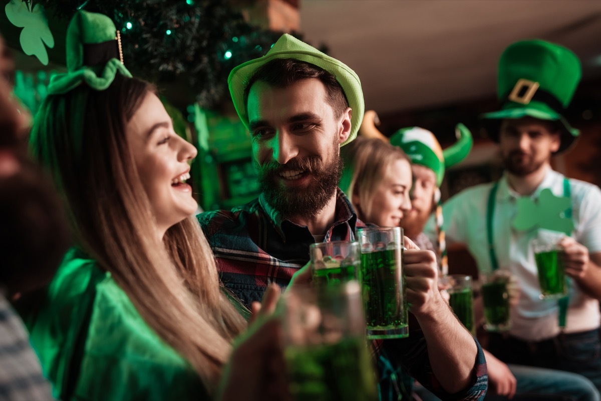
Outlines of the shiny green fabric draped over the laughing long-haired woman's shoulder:
<svg viewBox="0 0 601 401">
<path fill-rule="evenodd" d="M 76 250 L 41 310 L 19 312 L 57 399 L 209 399 L 188 362 L 148 327 L 111 276 Z"/>
</svg>

